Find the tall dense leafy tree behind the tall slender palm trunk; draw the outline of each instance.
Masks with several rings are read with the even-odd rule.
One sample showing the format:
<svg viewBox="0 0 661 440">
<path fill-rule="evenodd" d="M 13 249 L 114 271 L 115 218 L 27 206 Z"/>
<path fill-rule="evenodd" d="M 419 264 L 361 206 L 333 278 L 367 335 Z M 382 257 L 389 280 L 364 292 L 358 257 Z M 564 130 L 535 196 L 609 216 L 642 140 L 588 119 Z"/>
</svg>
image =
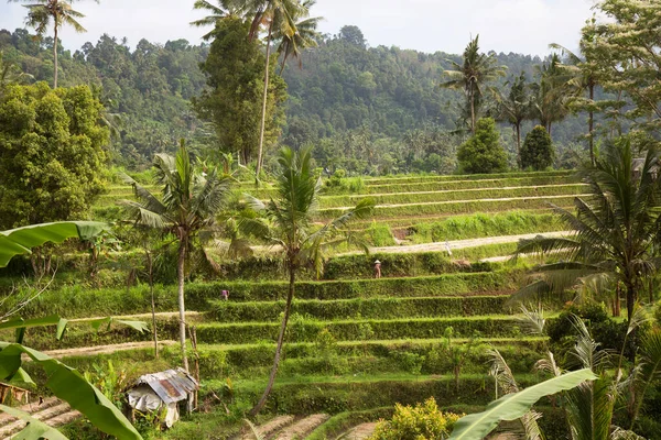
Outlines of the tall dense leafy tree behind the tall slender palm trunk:
<svg viewBox="0 0 661 440">
<path fill-rule="evenodd" d="M 209 54 L 201 64 L 208 88 L 194 99 L 201 119 L 213 122 L 221 152 L 241 154 L 247 164 L 257 155 L 261 98 L 266 57 L 258 41 L 248 38 L 250 22 L 225 18 L 215 23 Z M 277 61 L 271 59 L 271 69 Z M 278 75 L 270 76 L 267 106 L 266 142 L 273 143 L 280 135 L 284 120 L 282 102 L 285 85 Z M 215 156 L 218 156 L 218 152 Z"/>
</svg>

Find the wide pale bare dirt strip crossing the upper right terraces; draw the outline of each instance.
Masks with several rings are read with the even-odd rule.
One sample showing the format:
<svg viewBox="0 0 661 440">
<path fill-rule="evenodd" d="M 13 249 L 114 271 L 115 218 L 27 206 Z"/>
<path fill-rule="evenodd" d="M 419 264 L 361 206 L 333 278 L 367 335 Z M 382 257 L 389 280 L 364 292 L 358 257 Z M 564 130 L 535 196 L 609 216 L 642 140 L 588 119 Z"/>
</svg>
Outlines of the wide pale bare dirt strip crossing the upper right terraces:
<svg viewBox="0 0 661 440">
<path fill-rule="evenodd" d="M 485 237 L 481 239 L 469 239 L 469 240 L 454 240 L 448 242 L 435 242 L 435 243 L 423 243 L 423 244 L 410 244 L 405 246 L 386 246 L 386 248 L 370 248 L 370 253 L 382 253 L 382 254 L 411 254 L 416 252 L 447 252 L 449 250 L 465 249 L 484 246 L 487 244 L 503 244 L 503 243 L 517 243 L 519 240 L 530 240 L 538 235 L 544 237 L 562 237 L 568 234 L 568 231 L 555 231 L 555 232 L 535 232 L 520 235 L 500 235 L 500 237 Z M 354 255 L 360 252 L 347 252 L 340 255 Z"/>
</svg>

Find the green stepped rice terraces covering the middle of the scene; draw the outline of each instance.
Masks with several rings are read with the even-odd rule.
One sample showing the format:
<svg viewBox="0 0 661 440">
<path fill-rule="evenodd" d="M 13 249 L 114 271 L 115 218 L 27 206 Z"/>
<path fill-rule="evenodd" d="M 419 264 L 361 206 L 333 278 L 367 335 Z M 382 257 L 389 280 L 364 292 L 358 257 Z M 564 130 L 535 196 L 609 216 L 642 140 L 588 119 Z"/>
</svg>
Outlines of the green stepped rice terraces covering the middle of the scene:
<svg viewBox="0 0 661 440">
<path fill-rule="evenodd" d="M 242 189 L 260 198 L 273 195 L 269 188 Z M 347 438 L 361 439 L 373 429 L 371 422 L 389 416 L 394 403 L 413 404 L 431 395 L 442 407 L 484 405 L 494 397 L 489 345 L 501 350 L 522 384 L 537 380 L 529 373 L 545 341 L 524 334 L 517 308 L 508 301 L 525 267 L 480 260 L 508 255 L 521 234 L 562 233 L 549 202 L 570 207 L 585 188 L 572 175 L 553 172 L 372 178 L 357 189 L 335 188 L 325 195 L 318 219 L 369 195 L 379 206 L 375 219 L 359 229 L 371 231 L 372 239 L 380 231 L 384 239 L 376 240 L 381 245 L 370 257 L 329 258 L 323 280 L 314 280 L 312 273 L 302 275 L 284 360 L 258 428 L 266 438 L 336 438 L 359 427 Z M 128 197 L 130 188 L 112 187 L 97 212 L 111 217 L 115 201 Z M 377 257 L 382 261 L 381 279 L 371 278 Z M 52 350 L 82 370 L 108 360 L 129 376 L 171 366 L 178 362 L 172 342 L 177 329 L 175 289 L 155 288 L 159 360 L 153 359 L 150 334 L 118 326 L 97 333 L 85 322 L 72 322 L 63 341 L 30 331 L 25 342 Z M 221 300 L 223 289 L 229 290 L 228 301 Z M 86 318 L 94 304 L 94 316 L 128 317 L 150 311 L 148 293 L 145 286 L 62 286 L 28 310 Z M 220 408 L 218 414 L 225 414 L 224 405 L 249 408 L 262 392 L 285 294 L 284 275 L 271 256 L 223 263 L 221 276 L 187 285 L 201 402 Z M 556 306 L 546 306 L 550 319 Z M 169 438 L 204 438 L 201 417 L 181 422 Z M 217 429 L 229 433 L 238 428 Z"/>
</svg>

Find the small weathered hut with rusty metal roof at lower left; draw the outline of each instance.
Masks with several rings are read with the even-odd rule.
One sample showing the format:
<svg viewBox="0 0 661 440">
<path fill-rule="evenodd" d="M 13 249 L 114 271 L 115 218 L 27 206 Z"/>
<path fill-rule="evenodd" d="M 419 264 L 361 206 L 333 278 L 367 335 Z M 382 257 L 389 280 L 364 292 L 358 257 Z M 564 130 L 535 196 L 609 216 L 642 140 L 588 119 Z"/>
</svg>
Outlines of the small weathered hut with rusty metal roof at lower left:
<svg viewBox="0 0 661 440">
<path fill-rule="evenodd" d="M 164 424 L 171 428 L 180 418 L 180 403 L 192 403 L 198 387 L 197 381 L 185 370 L 176 369 L 138 377 L 127 395 L 129 406 L 141 413 L 165 408 Z"/>
</svg>

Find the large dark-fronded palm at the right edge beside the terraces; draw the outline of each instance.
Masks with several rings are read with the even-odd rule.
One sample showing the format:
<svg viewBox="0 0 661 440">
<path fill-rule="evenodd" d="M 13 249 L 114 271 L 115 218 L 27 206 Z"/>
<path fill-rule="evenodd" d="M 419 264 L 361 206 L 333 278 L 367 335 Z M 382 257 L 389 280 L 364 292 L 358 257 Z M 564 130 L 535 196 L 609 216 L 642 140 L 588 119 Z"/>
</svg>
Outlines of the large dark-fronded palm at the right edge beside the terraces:
<svg viewBox="0 0 661 440">
<path fill-rule="evenodd" d="M 514 297 L 564 292 L 578 283 L 606 285 L 627 292 L 629 321 L 644 282 L 661 267 L 654 252 L 661 239 L 660 153 L 651 147 L 641 168 L 632 157 L 630 141 L 620 139 L 596 165 L 582 172 L 589 198 L 575 199 L 577 213 L 555 207 L 573 229 L 567 238 L 538 237 L 522 241 L 516 255 L 552 252 L 560 260 L 540 266 L 533 282 Z M 617 304 L 617 300 L 616 300 Z"/>
</svg>

